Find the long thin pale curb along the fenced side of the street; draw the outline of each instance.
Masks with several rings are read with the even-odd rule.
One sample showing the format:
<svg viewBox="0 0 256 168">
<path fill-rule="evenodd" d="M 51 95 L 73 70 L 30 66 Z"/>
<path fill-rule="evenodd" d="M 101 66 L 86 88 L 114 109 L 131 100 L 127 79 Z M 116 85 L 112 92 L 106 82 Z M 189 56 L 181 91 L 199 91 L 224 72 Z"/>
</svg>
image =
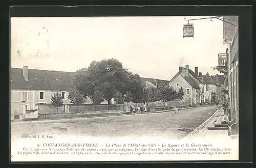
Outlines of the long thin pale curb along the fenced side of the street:
<svg viewBox="0 0 256 168">
<path fill-rule="evenodd" d="M 212 106 L 212 105 L 208 105 L 208 106 Z M 197 107 L 206 107 L 206 106 L 197 106 Z M 190 109 L 190 108 L 196 108 L 196 107 L 179 108 L 179 110 Z M 161 110 L 161 111 L 150 111 L 148 113 L 132 113 L 132 114 L 120 114 L 120 115 L 108 115 L 108 116 L 69 117 L 69 118 L 59 118 L 59 119 L 38 119 L 38 120 L 31 120 L 31 121 L 16 121 L 16 122 L 11 122 L 11 124 L 28 123 L 28 122 L 44 122 L 44 121 L 50 121 L 50 120 L 79 119 L 79 118 L 86 119 L 86 118 L 100 118 L 100 117 L 114 117 L 114 116 L 145 115 L 145 114 L 165 113 L 168 111 L 174 111 L 174 109 L 167 109 L 167 110 Z"/>
</svg>

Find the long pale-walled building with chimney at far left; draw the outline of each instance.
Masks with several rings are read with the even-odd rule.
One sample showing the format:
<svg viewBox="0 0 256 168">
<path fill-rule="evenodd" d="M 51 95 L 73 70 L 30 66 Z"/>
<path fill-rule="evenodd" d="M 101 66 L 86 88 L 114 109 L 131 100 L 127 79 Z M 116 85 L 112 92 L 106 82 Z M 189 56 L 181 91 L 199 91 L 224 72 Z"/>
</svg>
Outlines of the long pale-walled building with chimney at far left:
<svg viewBox="0 0 256 168">
<path fill-rule="evenodd" d="M 72 72 L 11 68 L 11 114 L 22 114 L 25 110 L 35 109 L 36 104 L 51 104 L 51 96 L 58 92 L 64 104 L 71 90 Z"/>
</svg>

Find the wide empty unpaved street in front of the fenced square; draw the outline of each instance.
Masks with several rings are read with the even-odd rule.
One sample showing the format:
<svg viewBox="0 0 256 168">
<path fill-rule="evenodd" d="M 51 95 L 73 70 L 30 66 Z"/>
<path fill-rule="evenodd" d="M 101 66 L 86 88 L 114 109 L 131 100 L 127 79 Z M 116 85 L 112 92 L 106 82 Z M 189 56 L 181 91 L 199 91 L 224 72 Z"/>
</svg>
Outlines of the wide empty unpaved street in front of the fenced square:
<svg viewBox="0 0 256 168">
<path fill-rule="evenodd" d="M 203 106 L 164 113 L 126 116 L 72 118 L 11 123 L 11 139 L 22 135 L 80 136 L 161 136 L 182 138 L 206 121 L 217 106 Z M 23 138 L 24 140 L 24 138 Z"/>
</svg>

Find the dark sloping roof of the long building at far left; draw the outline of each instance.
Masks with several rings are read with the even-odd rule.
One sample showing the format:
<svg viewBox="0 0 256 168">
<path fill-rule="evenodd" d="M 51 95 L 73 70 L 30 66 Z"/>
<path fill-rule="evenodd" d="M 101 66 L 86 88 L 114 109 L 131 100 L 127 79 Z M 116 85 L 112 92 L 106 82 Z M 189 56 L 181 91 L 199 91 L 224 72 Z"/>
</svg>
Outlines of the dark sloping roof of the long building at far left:
<svg viewBox="0 0 256 168">
<path fill-rule="evenodd" d="M 11 89 L 20 90 L 70 90 L 73 72 L 28 69 L 28 81 L 23 69 L 11 68 Z"/>
</svg>

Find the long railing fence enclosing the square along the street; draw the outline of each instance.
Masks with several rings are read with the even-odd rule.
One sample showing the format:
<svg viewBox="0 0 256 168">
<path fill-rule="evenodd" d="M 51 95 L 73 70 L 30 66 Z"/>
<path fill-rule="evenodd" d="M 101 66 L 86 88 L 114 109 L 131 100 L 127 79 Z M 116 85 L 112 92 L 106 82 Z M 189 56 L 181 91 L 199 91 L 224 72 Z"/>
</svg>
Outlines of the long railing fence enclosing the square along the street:
<svg viewBox="0 0 256 168">
<path fill-rule="evenodd" d="M 160 107 L 180 107 L 188 105 L 189 102 L 173 101 L 173 102 L 148 102 L 146 106 L 150 109 Z M 37 105 L 38 114 L 57 114 L 57 113 L 91 113 L 96 111 L 126 111 L 127 107 L 133 105 L 135 108 L 139 108 L 144 103 L 125 103 L 125 104 L 104 104 L 104 105 L 62 105 L 60 107 L 54 107 L 51 104 Z"/>
</svg>

